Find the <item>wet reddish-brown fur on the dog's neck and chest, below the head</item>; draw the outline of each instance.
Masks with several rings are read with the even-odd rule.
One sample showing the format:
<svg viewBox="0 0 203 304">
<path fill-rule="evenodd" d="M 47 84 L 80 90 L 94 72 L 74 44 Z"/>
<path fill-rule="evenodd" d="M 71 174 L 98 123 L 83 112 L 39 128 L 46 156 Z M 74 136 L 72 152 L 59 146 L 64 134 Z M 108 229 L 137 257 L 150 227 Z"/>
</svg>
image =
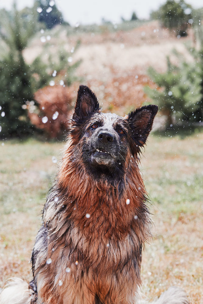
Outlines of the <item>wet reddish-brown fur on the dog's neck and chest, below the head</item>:
<svg viewBox="0 0 203 304">
<path fill-rule="evenodd" d="M 68 208 L 58 217 L 61 202 L 56 209 L 50 203 L 44 213 L 44 222 L 51 223 L 52 234 L 44 265 L 40 271 L 37 269 L 43 277 L 38 296 L 52 304 L 65 303 L 64 298 L 67 303 L 76 303 L 75 298 L 81 298 L 78 303 L 95 303 L 95 295 L 104 303 L 120 303 L 129 293 L 135 294 L 141 283 L 140 248 L 149 237 L 150 221 L 142 203 L 145 189 L 138 165 L 129 155 L 130 168 L 119 198 L 117 188 L 110 187 L 106 181 L 101 184 L 87 179 L 85 171 L 72 162 L 71 154 L 72 144 L 68 142 L 58 174 L 59 188 L 63 189 L 60 195 L 68 198 L 62 200 L 62 204 Z M 130 199 L 129 205 L 126 199 Z M 102 204 L 98 206 L 98 202 Z M 87 213 L 90 218 L 86 218 Z M 138 219 L 135 220 L 135 216 Z M 70 218 L 74 224 L 70 223 Z M 70 225 L 71 233 L 66 233 Z M 57 248 L 52 251 L 56 242 Z M 131 266 L 135 256 L 134 268 Z M 52 263 L 47 265 L 49 257 Z M 65 271 L 67 267 L 70 273 Z M 59 280 L 63 285 L 58 285 Z M 54 297 L 58 302 L 54 302 Z"/>
</svg>

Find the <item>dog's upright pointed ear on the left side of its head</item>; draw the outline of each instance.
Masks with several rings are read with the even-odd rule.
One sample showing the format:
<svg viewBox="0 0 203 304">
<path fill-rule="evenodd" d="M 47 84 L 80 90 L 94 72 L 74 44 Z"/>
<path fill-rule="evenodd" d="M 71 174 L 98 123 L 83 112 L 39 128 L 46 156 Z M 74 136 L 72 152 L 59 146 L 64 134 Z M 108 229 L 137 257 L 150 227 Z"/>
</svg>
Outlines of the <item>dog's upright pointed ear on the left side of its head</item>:
<svg viewBox="0 0 203 304">
<path fill-rule="evenodd" d="M 99 110 L 100 106 L 96 95 L 86 85 L 80 85 L 73 119 L 84 120 Z"/>
</svg>

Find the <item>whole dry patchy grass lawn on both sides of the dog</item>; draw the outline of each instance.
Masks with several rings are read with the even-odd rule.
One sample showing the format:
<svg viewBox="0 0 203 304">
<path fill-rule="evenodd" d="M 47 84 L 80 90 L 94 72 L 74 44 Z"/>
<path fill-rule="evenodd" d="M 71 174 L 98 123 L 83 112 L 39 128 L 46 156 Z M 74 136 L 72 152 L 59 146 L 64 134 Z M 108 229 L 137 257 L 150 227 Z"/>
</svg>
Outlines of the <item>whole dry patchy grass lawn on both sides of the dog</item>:
<svg viewBox="0 0 203 304">
<path fill-rule="evenodd" d="M 149 192 L 153 240 L 146 244 L 142 291 L 154 299 L 169 286 L 201 302 L 203 133 L 150 136 L 140 169 Z M 32 247 L 63 143 L 0 142 L 0 287 L 11 276 L 31 278 Z"/>
</svg>

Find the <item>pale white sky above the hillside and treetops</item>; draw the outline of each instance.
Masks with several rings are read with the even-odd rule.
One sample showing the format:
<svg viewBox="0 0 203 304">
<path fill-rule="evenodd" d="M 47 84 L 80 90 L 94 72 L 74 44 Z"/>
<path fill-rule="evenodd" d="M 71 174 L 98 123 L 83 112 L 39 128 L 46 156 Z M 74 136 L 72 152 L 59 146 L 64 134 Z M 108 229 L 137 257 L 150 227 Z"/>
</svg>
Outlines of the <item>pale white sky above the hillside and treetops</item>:
<svg viewBox="0 0 203 304">
<path fill-rule="evenodd" d="M 53 1 L 53 0 L 52 0 Z M 33 6 L 34 0 L 16 0 L 17 8 Z M 130 19 L 132 12 L 136 12 L 138 18 L 147 19 L 152 10 L 156 10 L 166 0 L 55 0 L 58 9 L 61 10 L 65 21 L 72 26 L 77 24 L 100 23 L 102 18 L 111 22 L 120 22 L 121 17 Z M 195 9 L 203 6 L 202 0 L 185 0 Z M 0 8 L 10 10 L 13 0 L 0 0 Z"/>
</svg>

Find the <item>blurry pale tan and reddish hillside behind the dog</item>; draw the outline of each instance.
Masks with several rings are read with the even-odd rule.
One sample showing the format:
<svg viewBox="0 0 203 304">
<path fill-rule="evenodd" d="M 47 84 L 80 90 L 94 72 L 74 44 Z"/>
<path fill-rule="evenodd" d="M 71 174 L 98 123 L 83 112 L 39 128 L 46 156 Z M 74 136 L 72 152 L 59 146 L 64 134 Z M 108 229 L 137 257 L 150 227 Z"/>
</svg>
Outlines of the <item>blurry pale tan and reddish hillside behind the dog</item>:
<svg viewBox="0 0 203 304">
<path fill-rule="evenodd" d="M 38 35 L 24 51 L 26 61 L 31 63 L 38 55 L 47 60 L 50 52 L 56 54 L 61 47 L 67 51 L 74 50 L 79 40 L 80 47 L 71 59 L 72 63 L 82 60 L 76 75 L 81 78 L 81 83 L 96 92 L 105 110 L 114 110 L 118 114 L 147 100 L 143 87 L 153 86 L 147 76 L 149 66 L 159 72 L 165 71 L 168 55 L 173 63 L 178 64 L 174 49 L 186 60 L 192 60 L 188 46 L 194 43 L 192 31 L 188 37 L 177 39 L 168 29 L 161 28 L 158 21 L 142 23 L 129 31 L 111 32 L 103 27 L 99 33 L 78 30 L 74 35 L 68 34 L 66 27 L 58 26 L 43 35 L 45 40 L 45 35 L 49 36 L 46 48 Z M 75 84 L 75 91 L 78 85 Z"/>
</svg>

